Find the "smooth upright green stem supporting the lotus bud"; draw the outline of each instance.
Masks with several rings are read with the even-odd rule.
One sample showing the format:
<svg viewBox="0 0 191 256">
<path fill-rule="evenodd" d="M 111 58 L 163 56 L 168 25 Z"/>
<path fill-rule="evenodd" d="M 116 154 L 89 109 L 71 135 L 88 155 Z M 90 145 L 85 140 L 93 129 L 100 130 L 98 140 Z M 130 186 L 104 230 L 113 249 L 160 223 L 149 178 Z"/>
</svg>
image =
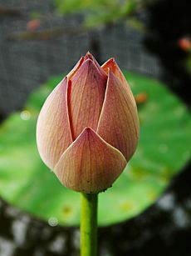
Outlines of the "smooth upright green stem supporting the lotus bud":
<svg viewBox="0 0 191 256">
<path fill-rule="evenodd" d="M 97 255 L 97 193 L 81 193 L 81 256 Z"/>
</svg>

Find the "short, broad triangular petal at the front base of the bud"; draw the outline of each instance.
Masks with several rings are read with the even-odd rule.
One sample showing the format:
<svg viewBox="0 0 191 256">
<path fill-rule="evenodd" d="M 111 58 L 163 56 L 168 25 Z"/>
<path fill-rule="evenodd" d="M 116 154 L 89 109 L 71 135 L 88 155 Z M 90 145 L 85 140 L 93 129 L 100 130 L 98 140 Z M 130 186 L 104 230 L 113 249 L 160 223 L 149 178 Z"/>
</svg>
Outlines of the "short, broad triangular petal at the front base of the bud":
<svg viewBox="0 0 191 256">
<path fill-rule="evenodd" d="M 91 128 L 85 128 L 62 154 L 54 172 L 67 188 L 98 193 L 114 183 L 125 165 L 120 151 L 105 143 Z"/>
</svg>

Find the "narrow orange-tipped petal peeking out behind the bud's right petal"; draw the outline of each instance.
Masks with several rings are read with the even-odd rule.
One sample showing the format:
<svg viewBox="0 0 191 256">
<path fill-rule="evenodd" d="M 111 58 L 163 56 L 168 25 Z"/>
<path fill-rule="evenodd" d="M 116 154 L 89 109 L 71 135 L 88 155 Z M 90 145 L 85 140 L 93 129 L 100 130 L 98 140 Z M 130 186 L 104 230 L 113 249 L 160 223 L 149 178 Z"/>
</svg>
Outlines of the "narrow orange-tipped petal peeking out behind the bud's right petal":
<svg viewBox="0 0 191 256">
<path fill-rule="evenodd" d="M 122 86 L 124 86 L 125 89 L 128 91 L 133 104 L 136 106 L 135 98 L 134 98 L 133 93 L 130 90 L 130 86 L 127 83 L 127 80 L 125 79 L 125 77 L 124 77 L 123 73 L 121 72 L 119 66 L 117 65 L 117 63 L 115 63 L 115 59 L 114 58 L 110 58 L 107 62 L 105 62 L 101 66 L 101 68 L 103 68 L 103 70 L 106 73 L 108 73 L 108 68 L 110 68 L 110 70 L 115 74 L 115 77 L 120 79 L 120 82 L 121 82 Z"/>
</svg>

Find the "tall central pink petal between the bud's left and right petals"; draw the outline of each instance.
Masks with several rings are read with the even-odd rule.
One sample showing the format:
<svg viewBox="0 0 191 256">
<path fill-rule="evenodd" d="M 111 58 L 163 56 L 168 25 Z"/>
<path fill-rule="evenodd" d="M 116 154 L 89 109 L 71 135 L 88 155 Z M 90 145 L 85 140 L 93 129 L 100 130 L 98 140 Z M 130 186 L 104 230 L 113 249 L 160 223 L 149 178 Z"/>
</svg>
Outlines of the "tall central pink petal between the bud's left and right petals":
<svg viewBox="0 0 191 256">
<path fill-rule="evenodd" d="M 106 77 L 87 59 L 71 78 L 68 108 L 73 139 L 86 127 L 96 129 L 104 102 Z"/>
</svg>

